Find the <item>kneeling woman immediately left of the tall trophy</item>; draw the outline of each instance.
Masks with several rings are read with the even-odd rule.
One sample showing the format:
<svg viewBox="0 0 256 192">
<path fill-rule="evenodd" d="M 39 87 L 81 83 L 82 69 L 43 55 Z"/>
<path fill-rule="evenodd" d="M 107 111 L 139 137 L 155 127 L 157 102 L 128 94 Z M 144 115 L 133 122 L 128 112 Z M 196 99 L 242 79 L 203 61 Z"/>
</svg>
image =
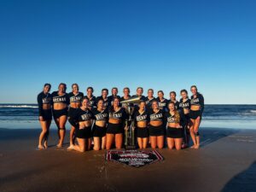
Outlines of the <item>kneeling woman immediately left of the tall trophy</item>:
<svg viewBox="0 0 256 192">
<path fill-rule="evenodd" d="M 108 109 L 107 150 L 112 147 L 113 143 L 115 143 L 115 148 L 122 148 L 123 134 L 127 129 L 126 120 L 125 108 L 119 107 L 119 98 L 116 97 L 113 99 L 113 106 Z"/>
</svg>

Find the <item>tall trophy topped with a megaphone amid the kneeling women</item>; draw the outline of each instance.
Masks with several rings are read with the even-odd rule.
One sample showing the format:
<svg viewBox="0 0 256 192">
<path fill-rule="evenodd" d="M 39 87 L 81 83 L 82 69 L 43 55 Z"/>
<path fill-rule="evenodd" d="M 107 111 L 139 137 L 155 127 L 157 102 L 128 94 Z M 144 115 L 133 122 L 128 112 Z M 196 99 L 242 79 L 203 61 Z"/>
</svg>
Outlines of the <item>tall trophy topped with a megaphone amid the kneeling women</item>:
<svg viewBox="0 0 256 192">
<path fill-rule="evenodd" d="M 134 119 L 132 119 L 132 113 L 134 112 L 134 106 L 131 106 L 131 103 L 140 102 L 140 96 L 132 96 L 130 99 L 127 99 L 120 103 L 127 103 L 125 107 L 126 113 L 129 115 L 129 118 L 125 121 L 125 125 L 128 127 L 125 130 L 125 149 L 135 149 L 135 134 L 134 134 Z"/>
</svg>

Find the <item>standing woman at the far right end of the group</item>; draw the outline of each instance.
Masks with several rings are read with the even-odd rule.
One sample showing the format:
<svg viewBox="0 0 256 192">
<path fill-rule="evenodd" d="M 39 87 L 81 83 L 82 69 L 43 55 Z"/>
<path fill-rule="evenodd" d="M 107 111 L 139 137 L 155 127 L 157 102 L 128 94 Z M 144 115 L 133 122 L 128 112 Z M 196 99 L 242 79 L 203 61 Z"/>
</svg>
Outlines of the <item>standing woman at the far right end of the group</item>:
<svg viewBox="0 0 256 192">
<path fill-rule="evenodd" d="M 201 124 L 201 115 L 204 111 L 204 97 L 197 91 L 197 87 L 192 85 L 190 88 L 192 95 L 191 96 L 191 107 L 189 112 L 189 117 L 191 120 L 190 127 L 190 136 L 193 140 L 194 145 L 191 148 L 199 148 L 200 147 L 200 136 L 199 136 L 199 126 Z"/>
</svg>

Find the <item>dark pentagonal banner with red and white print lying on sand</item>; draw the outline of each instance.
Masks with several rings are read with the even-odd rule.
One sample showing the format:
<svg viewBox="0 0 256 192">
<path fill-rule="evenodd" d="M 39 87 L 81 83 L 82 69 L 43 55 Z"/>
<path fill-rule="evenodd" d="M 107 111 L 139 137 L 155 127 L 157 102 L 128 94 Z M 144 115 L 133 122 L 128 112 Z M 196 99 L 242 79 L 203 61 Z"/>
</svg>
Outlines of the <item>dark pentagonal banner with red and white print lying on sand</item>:
<svg viewBox="0 0 256 192">
<path fill-rule="evenodd" d="M 109 150 L 106 160 L 126 164 L 127 166 L 145 166 L 156 161 L 164 160 L 158 151 L 137 151 L 137 150 Z"/>
</svg>

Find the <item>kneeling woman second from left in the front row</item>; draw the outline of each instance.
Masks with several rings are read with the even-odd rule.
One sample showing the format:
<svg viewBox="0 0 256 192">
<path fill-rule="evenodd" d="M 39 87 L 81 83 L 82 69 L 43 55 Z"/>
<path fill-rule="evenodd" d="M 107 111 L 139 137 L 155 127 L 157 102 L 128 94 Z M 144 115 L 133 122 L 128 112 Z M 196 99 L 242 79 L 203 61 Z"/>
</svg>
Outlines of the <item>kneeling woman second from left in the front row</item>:
<svg viewBox="0 0 256 192">
<path fill-rule="evenodd" d="M 93 143 L 94 150 L 100 150 L 106 148 L 106 131 L 108 123 L 108 110 L 104 109 L 103 100 L 99 100 L 97 108 L 92 109 L 94 115 L 95 124 L 93 126 Z"/>
</svg>

